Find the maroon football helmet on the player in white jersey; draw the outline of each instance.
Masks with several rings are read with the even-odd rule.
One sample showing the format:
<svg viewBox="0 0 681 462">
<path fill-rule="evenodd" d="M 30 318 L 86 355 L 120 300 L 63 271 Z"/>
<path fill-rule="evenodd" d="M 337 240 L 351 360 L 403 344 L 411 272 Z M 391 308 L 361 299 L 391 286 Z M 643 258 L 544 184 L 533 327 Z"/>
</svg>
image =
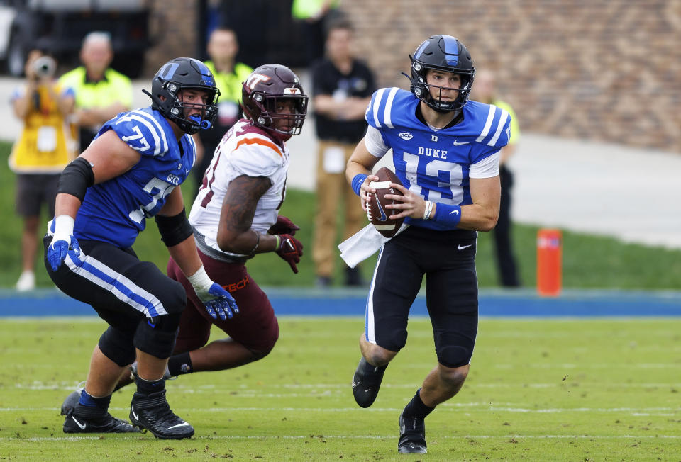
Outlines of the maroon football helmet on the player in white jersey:
<svg viewBox="0 0 681 462">
<path fill-rule="evenodd" d="M 253 125 L 284 135 L 279 136 L 284 141 L 292 135 L 299 135 L 303 128 L 307 115 L 307 99 L 298 76 L 281 64 L 264 64 L 257 67 L 243 82 L 241 88 L 243 112 Z M 294 101 L 295 112 L 278 113 L 277 103 L 281 101 Z M 275 121 L 281 119 L 288 121 L 288 130 L 277 128 Z"/>
</svg>

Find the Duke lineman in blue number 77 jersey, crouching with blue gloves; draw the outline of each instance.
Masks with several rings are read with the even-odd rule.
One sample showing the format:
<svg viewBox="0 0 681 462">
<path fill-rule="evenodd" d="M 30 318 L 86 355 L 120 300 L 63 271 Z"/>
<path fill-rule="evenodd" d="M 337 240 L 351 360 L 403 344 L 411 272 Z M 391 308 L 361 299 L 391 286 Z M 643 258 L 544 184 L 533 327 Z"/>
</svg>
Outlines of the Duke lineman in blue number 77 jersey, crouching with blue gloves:
<svg viewBox="0 0 681 462">
<path fill-rule="evenodd" d="M 138 432 L 182 439 L 194 428 L 170 410 L 163 378 L 175 346 L 184 288 L 131 245 L 155 216 L 168 252 L 192 282 L 206 310 L 238 312 L 234 299 L 211 281 L 196 252 L 179 184 L 196 161 L 191 134 L 208 128 L 219 91 L 206 65 L 176 58 L 152 82 L 148 108 L 120 113 L 62 172 L 55 218 L 45 236 L 45 268 L 67 295 L 89 303 L 109 328 L 99 339 L 87 383 L 64 423 L 65 433 Z M 121 374 L 137 361 L 137 392 L 128 422 L 109 402 Z"/>
</svg>

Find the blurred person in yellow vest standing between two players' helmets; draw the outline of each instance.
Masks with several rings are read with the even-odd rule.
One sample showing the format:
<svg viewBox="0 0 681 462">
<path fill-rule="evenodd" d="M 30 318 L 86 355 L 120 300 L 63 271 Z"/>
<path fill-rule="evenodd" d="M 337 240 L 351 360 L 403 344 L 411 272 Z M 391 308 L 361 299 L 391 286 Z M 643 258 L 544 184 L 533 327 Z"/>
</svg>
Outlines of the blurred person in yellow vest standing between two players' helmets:
<svg viewBox="0 0 681 462">
<path fill-rule="evenodd" d="M 196 180 L 196 193 L 204 179 L 204 173 L 211 164 L 215 148 L 218 147 L 223 135 L 241 117 L 239 101 L 241 86 L 253 69 L 241 62 L 235 62 L 239 51 L 239 44 L 234 30 L 216 28 L 208 40 L 206 47 L 211 60 L 206 61 L 215 78 L 215 84 L 220 90 L 218 98 L 218 117 L 212 128 L 199 130 L 194 135 L 196 141 L 196 165 L 192 169 Z"/>
</svg>

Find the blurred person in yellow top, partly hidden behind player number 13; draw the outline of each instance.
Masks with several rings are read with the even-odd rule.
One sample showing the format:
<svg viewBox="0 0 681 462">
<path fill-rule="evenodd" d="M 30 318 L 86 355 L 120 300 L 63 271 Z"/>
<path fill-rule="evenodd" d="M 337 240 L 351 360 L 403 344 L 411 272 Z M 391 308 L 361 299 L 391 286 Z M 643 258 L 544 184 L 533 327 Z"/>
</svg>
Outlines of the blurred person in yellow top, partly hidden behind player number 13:
<svg viewBox="0 0 681 462">
<path fill-rule="evenodd" d="M 494 73 L 480 71 L 475 77 L 473 85 L 473 98 L 480 103 L 494 104 L 504 109 L 511 115 L 511 137 L 509 144 L 502 147 L 499 157 L 499 180 L 502 182 L 502 201 L 499 205 L 499 220 L 494 227 L 494 247 L 496 249 L 497 270 L 504 287 L 518 287 L 521 285 L 516 265 L 516 257 L 513 252 L 511 240 L 511 188 L 513 187 L 513 173 L 508 167 L 508 160 L 516 152 L 520 139 L 518 118 L 511 105 L 497 98 L 497 87 Z"/>
</svg>

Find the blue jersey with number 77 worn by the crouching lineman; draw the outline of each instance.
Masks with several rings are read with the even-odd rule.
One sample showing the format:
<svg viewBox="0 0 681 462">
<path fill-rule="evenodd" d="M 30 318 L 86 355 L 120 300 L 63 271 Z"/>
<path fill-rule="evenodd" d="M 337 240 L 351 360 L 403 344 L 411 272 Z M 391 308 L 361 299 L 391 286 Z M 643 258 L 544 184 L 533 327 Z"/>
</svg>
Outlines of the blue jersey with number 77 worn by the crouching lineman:
<svg viewBox="0 0 681 462">
<path fill-rule="evenodd" d="M 146 218 L 156 215 L 168 194 L 187 179 L 196 162 L 196 145 L 190 135 L 178 143 L 170 123 L 150 107 L 118 114 L 95 139 L 109 130 L 140 153 L 140 162 L 116 178 L 87 188 L 74 236 L 126 248 L 144 230 Z"/>
</svg>

